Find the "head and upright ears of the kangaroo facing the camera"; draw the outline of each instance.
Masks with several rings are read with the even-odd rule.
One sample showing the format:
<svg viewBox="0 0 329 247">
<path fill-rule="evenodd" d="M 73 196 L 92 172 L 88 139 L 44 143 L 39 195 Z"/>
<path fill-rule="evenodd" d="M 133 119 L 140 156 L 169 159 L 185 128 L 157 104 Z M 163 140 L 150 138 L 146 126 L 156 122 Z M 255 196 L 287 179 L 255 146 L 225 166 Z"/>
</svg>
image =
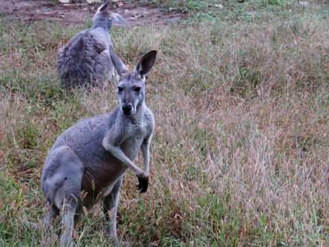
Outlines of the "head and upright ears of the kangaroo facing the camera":
<svg viewBox="0 0 329 247">
<path fill-rule="evenodd" d="M 110 56 L 117 70 L 118 99 L 123 115 L 134 115 L 144 104 L 145 75 L 149 73 L 156 60 L 156 51 L 149 51 L 138 62 L 134 71 L 129 71 L 125 64 L 110 47 Z"/>
</svg>

